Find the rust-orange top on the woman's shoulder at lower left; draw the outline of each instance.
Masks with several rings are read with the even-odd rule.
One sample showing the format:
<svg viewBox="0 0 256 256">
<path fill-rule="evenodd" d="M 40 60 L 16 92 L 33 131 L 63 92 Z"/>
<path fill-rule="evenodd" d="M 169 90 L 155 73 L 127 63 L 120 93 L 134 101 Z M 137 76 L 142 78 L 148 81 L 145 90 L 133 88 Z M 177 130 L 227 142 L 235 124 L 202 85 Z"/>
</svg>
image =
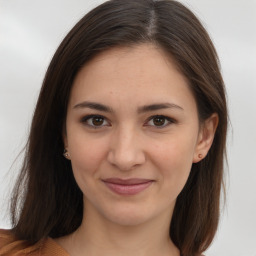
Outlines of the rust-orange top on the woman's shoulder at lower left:
<svg viewBox="0 0 256 256">
<path fill-rule="evenodd" d="M 34 245 L 16 240 L 11 231 L 0 229 L 0 256 L 69 256 L 52 238 L 41 239 Z"/>
</svg>

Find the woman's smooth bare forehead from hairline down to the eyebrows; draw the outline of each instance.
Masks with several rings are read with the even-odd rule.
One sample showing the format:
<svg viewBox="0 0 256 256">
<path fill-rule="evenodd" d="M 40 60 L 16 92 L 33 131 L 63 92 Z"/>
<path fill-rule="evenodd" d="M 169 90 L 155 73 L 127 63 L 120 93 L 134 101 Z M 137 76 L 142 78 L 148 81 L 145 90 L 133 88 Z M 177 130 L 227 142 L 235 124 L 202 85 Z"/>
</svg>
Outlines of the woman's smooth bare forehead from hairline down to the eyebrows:
<svg viewBox="0 0 256 256">
<path fill-rule="evenodd" d="M 187 79 L 167 54 L 151 44 L 104 51 L 76 76 L 70 102 L 104 101 L 119 106 L 133 102 L 192 101 Z"/>
</svg>

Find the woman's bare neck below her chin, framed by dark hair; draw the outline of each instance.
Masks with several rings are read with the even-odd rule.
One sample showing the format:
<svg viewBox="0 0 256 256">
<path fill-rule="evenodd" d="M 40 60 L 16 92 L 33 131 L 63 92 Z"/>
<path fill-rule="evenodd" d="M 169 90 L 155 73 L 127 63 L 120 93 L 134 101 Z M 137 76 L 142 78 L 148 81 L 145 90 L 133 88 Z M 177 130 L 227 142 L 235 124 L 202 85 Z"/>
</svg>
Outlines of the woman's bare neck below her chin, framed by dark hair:
<svg viewBox="0 0 256 256">
<path fill-rule="evenodd" d="M 90 208 L 90 207 L 88 207 Z M 85 211 L 81 226 L 61 245 L 72 256 L 179 256 L 169 237 L 170 216 L 138 225 L 122 226 L 108 221 L 96 211 Z"/>
</svg>

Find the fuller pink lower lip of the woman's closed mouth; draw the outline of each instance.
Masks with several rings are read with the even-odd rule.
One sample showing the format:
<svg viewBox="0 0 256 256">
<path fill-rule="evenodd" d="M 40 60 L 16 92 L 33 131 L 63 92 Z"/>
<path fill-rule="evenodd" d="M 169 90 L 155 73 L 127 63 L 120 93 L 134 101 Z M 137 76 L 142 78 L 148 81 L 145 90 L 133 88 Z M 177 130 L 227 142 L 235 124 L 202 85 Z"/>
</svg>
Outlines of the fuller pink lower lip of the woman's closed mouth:
<svg viewBox="0 0 256 256">
<path fill-rule="evenodd" d="M 141 191 L 148 188 L 153 181 L 148 181 L 141 184 L 129 184 L 129 185 L 123 185 L 123 184 L 115 184 L 115 183 L 109 183 L 104 182 L 106 186 L 112 190 L 113 192 L 119 194 L 119 195 L 136 195 L 140 193 Z"/>
</svg>

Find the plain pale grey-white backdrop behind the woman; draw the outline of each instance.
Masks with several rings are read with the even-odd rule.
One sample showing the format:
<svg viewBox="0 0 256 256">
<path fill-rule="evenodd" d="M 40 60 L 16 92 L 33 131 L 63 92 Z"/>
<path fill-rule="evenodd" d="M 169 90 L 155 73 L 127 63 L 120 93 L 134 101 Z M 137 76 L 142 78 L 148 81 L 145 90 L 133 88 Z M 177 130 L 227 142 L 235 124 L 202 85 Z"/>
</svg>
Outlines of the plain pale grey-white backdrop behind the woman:
<svg viewBox="0 0 256 256">
<path fill-rule="evenodd" d="M 0 0 L 0 227 L 57 46 L 95 0 Z M 256 256 L 256 1 L 184 0 L 210 33 L 227 86 L 227 204 L 207 256 Z"/>
</svg>

